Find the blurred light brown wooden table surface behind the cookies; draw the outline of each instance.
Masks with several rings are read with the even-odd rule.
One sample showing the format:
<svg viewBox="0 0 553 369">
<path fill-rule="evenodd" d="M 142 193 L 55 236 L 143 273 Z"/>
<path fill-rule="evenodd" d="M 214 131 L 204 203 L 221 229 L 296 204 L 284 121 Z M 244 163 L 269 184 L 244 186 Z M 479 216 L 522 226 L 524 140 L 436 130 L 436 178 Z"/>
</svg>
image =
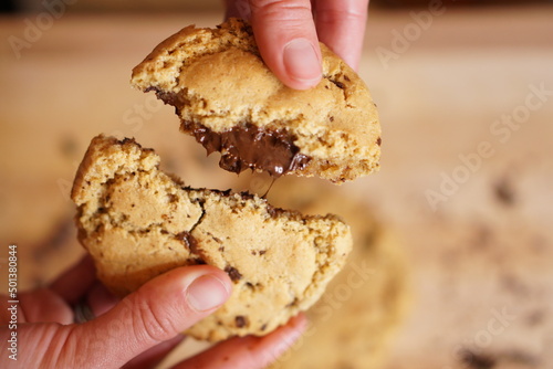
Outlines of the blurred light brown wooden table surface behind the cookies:
<svg viewBox="0 0 553 369">
<path fill-rule="evenodd" d="M 409 260 L 386 368 L 553 368 L 553 8 L 420 11 L 371 13 L 361 75 L 382 170 L 342 187 Z M 0 19 L 0 261 L 19 245 L 21 288 L 82 254 L 69 187 L 94 135 L 136 137 L 191 186 L 234 181 L 128 84 L 157 42 L 219 19 Z"/>
</svg>

